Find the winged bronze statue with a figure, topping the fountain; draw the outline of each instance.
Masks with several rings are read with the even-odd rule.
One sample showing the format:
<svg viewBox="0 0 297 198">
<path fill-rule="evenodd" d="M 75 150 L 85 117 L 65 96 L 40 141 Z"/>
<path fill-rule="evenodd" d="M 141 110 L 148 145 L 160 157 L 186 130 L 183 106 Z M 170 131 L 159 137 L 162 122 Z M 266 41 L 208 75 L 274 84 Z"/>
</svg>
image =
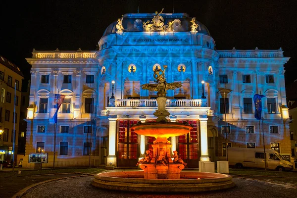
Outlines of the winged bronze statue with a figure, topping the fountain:
<svg viewBox="0 0 297 198">
<path fill-rule="evenodd" d="M 151 92 L 157 92 L 157 97 L 166 97 L 167 90 L 174 90 L 183 86 L 180 82 L 167 83 L 165 78 L 165 70 L 167 65 L 164 65 L 164 70 L 155 69 L 153 72 L 154 82 L 157 84 L 144 84 L 141 86 L 143 90 L 149 90 Z"/>
</svg>

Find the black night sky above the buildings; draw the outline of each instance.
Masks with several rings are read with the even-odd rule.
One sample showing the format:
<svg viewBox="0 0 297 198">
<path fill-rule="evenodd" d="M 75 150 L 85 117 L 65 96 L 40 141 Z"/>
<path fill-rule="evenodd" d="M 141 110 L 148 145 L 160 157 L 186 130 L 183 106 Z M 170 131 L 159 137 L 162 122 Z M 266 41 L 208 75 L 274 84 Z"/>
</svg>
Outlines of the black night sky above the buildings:
<svg viewBox="0 0 297 198">
<path fill-rule="evenodd" d="M 297 79 L 297 0 L 3 0 L 0 54 L 30 75 L 32 50 L 95 50 L 105 28 L 125 13 L 186 12 L 216 49 L 282 49 L 291 57 L 286 83 Z"/>
</svg>

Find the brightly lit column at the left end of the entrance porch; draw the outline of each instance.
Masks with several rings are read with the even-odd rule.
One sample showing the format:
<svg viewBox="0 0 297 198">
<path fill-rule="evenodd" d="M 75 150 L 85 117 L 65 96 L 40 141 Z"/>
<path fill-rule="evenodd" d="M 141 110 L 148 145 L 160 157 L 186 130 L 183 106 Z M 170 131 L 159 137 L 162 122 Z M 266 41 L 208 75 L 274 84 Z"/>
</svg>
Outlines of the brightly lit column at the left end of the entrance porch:
<svg viewBox="0 0 297 198">
<path fill-rule="evenodd" d="M 108 156 L 107 166 L 116 166 L 115 145 L 116 145 L 116 118 L 108 118 L 109 136 L 108 136 Z"/>
</svg>

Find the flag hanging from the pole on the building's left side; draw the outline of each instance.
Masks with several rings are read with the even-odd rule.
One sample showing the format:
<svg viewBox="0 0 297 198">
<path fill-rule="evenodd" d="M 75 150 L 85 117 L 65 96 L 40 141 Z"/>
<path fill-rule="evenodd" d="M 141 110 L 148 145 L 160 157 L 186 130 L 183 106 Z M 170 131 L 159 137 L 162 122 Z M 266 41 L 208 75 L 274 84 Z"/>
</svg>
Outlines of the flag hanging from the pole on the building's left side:
<svg viewBox="0 0 297 198">
<path fill-rule="evenodd" d="M 49 101 L 51 105 L 49 123 L 57 123 L 58 110 L 65 99 L 61 94 L 49 94 Z"/>
</svg>

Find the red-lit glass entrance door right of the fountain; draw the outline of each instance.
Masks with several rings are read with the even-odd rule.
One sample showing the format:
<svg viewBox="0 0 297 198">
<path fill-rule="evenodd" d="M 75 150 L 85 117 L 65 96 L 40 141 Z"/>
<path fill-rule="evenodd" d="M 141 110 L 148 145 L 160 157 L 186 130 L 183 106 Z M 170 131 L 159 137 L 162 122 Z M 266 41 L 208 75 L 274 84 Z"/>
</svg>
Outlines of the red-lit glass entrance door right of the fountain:
<svg viewBox="0 0 297 198">
<path fill-rule="evenodd" d="M 198 168 L 199 161 L 199 136 L 197 129 L 197 120 L 179 120 L 178 122 L 183 123 L 184 121 L 192 124 L 193 129 L 190 133 L 178 137 L 178 153 L 180 158 L 184 162 L 188 163 L 189 168 Z"/>
</svg>

